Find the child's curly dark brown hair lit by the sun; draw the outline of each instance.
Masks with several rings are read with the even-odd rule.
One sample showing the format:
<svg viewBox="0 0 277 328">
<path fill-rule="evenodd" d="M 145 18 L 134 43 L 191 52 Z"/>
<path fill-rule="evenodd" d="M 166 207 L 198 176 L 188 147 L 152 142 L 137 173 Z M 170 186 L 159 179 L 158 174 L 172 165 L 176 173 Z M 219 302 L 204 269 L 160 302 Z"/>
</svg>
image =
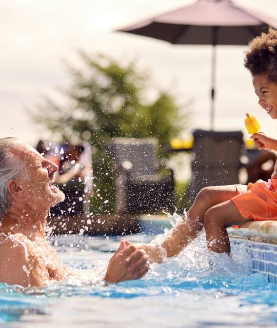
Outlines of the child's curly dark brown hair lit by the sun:
<svg viewBox="0 0 277 328">
<path fill-rule="evenodd" d="M 277 84 L 277 30 L 269 28 L 267 33 L 253 38 L 245 52 L 244 66 L 252 76 L 266 74 Z"/>
</svg>

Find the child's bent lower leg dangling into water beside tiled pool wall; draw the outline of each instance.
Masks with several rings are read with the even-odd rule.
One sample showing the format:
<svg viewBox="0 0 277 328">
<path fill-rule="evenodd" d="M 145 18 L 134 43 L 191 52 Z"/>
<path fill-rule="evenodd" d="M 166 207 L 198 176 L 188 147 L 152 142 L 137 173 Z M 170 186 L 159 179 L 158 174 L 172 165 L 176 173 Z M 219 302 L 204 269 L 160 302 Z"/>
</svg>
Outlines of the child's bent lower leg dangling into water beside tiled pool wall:
<svg viewBox="0 0 277 328">
<path fill-rule="evenodd" d="M 204 219 L 208 249 L 216 253 L 230 254 L 230 241 L 226 228 L 235 223 L 245 223 L 245 219 L 232 200 L 227 200 L 210 208 Z"/>
</svg>

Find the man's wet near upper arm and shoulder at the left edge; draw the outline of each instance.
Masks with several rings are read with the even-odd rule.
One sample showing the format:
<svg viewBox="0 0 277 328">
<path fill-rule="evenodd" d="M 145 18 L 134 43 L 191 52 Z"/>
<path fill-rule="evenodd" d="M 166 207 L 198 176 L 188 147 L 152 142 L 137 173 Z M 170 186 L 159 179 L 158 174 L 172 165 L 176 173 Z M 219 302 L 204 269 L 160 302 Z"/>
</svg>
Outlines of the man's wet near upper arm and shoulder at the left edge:
<svg viewBox="0 0 277 328">
<path fill-rule="evenodd" d="M 23 234 L 0 234 L 0 281 L 29 285 L 28 239 Z"/>
</svg>

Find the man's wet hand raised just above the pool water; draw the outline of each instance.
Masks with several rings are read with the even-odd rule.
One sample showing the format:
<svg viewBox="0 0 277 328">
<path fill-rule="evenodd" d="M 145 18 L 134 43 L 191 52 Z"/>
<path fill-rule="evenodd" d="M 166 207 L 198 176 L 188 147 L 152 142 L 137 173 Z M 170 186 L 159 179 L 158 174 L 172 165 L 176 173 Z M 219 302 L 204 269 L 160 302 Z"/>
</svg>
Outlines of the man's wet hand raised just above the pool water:
<svg viewBox="0 0 277 328">
<path fill-rule="evenodd" d="M 105 280 L 120 282 L 142 278 L 149 270 L 146 252 L 134 245 L 126 247 L 126 241 L 121 240 L 120 247 L 110 259 Z"/>
</svg>

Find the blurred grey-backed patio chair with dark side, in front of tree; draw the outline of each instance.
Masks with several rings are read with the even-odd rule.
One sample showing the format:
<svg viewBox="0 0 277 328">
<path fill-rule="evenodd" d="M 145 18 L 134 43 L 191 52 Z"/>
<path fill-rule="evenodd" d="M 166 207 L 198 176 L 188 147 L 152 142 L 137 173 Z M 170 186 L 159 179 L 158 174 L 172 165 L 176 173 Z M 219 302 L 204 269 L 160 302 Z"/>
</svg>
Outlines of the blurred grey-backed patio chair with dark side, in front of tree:
<svg viewBox="0 0 277 328">
<path fill-rule="evenodd" d="M 115 163 L 115 211 L 174 211 L 174 176 L 157 159 L 155 138 L 115 138 L 110 151 Z"/>
</svg>

